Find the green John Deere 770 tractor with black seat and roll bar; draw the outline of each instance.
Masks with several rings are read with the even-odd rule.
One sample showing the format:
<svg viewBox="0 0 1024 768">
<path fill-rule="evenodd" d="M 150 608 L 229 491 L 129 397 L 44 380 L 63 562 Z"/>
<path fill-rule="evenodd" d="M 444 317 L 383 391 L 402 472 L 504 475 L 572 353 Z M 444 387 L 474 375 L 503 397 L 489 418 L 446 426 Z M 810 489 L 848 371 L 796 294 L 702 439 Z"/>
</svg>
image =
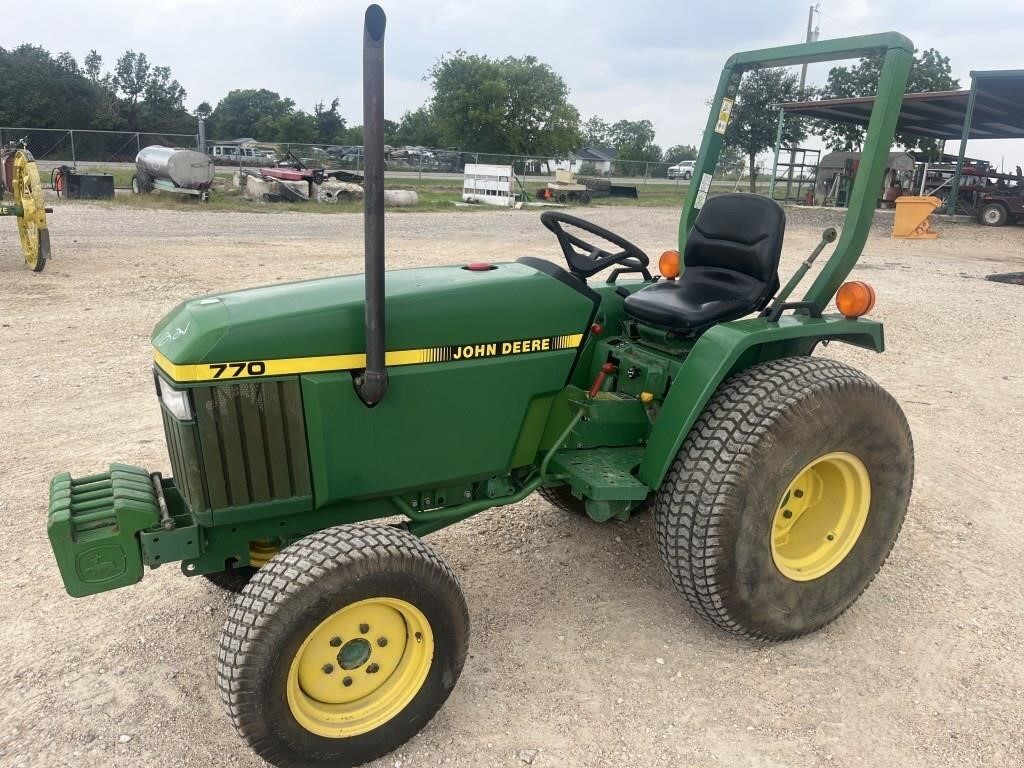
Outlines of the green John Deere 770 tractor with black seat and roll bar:
<svg viewBox="0 0 1024 768">
<path fill-rule="evenodd" d="M 844 281 L 867 237 L 910 41 L 889 33 L 732 56 L 664 278 L 629 241 L 554 211 L 541 219 L 564 267 L 525 257 L 385 274 L 384 27 L 371 6 L 365 278 L 180 304 L 153 334 L 173 477 L 111 465 L 50 486 L 48 532 L 70 594 L 174 561 L 240 592 L 218 683 L 239 733 L 278 766 L 382 756 L 452 691 L 469 615 L 427 534 L 535 492 L 597 521 L 650 509 L 665 565 L 697 613 L 777 641 L 853 603 L 891 550 L 912 484 L 896 401 L 813 355 L 829 342 L 883 349 L 882 326 L 863 317 L 873 292 Z M 885 66 L 842 236 L 791 301 L 836 231 L 780 289 L 782 209 L 709 197 L 740 77 L 874 51 Z M 840 311 L 825 313 L 834 297 Z"/>
</svg>

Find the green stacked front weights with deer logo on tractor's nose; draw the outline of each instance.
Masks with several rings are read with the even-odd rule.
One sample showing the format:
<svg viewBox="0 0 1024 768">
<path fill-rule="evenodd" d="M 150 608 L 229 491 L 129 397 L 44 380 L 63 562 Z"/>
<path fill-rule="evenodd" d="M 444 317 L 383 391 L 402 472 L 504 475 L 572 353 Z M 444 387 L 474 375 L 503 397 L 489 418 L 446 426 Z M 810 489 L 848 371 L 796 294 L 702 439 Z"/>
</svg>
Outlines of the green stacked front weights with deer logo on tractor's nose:
<svg viewBox="0 0 1024 768">
<path fill-rule="evenodd" d="M 75 479 L 65 472 L 50 481 L 46 532 L 73 597 L 139 581 L 138 534 L 159 522 L 153 478 L 140 467 L 112 464 L 103 474 Z"/>
</svg>

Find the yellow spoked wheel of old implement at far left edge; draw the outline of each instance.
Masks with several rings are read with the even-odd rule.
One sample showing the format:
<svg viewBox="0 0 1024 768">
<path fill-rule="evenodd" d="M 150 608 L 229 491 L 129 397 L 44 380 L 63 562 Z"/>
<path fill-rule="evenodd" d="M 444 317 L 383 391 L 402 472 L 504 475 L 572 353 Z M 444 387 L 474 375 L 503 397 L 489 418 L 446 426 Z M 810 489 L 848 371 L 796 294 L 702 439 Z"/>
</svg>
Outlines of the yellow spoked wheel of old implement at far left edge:
<svg viewBox="0 0 1024 768">
<path fill-rule="evenodd" d="M 51 213 L 43 202 L 43 184 L 32 153 L 11 141 L 0 153 L 3 166 L 4 188 L 11 201 L 0 202 L 0 216 L 17 218 L 17 234 L 22 241 L 25 263 L 34 272 L 43 271 L 50 257 L 50 232 L 46 228 L 46 214 Z"/>
</svg>

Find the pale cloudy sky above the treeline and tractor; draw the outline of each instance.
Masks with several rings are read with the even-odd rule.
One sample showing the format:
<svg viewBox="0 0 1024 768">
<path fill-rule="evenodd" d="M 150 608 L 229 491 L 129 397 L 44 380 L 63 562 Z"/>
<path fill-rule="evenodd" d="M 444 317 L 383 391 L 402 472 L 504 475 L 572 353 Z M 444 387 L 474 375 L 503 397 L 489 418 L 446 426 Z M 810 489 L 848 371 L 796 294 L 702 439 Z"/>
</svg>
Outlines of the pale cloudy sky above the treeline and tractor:
<svg viewBox="0 0 1024 768">
<path fill-rule="evenodd" d="M 799 42 L 807 0 L 384 0 L 388 14 L 385 112 L 397 119 L 426 100 L 423 76 L 446 51 L 534 54 L 568 84 L 584 119 L 648 119 L 663 148 L 697 144 L 728 54 Z M 896 30 L 919 48 L 938 48 L 970 85 L 971 70 L 1024 67 L 1024 3 L 976 13 L 963 0 L 927 4 L 823 0 L 822 38 Z M 0 45 L 31 42 L 79 62 L 90 48 L 110 69 L 126 49 L 170 67 L 187 104 L 216 105 L 233 88 L 264 87 L 304 110 L 341 99 L 361 122 L 360 56 L 365 0 L 48 0 L 43 15 L 0 26 Z M 826 69 L 812 69 L 812 82 Z M 950 142 L 949 152 L 955 151 Z M 969 154 L 1024 165 L 1024 140 L 971 142 Z"/>
</svg>

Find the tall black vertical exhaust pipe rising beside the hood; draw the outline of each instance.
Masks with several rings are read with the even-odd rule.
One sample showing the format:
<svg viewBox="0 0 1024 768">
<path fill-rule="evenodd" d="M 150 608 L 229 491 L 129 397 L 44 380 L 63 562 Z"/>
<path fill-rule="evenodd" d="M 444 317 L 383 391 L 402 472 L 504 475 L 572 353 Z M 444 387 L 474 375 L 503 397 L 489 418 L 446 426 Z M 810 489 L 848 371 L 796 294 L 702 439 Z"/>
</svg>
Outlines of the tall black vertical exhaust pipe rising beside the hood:
<svg viewBox="0 0 1024 768">
<path fill-rule="evenodd" d="M 356 382 L 359 397 L 376 406 L 387 392 L 384 369 L 384 28 L 379 5 L 367 8 L 362 28 L 364 229 L 367 302 L 367 369 Z"/>
</svg>

